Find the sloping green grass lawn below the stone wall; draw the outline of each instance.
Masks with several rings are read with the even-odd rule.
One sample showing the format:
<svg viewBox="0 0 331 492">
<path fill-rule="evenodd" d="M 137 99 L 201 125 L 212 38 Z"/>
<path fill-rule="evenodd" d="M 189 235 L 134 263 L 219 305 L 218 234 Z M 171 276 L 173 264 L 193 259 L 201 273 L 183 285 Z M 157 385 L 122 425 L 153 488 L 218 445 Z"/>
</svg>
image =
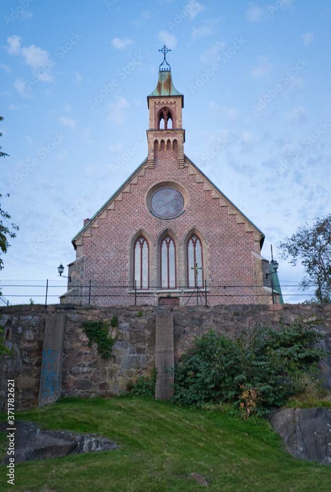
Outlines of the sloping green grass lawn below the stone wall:
<svg viewBox="0 0 331 492">
<path fill-rule="evenodd" d="M 0 414 L 5 420 L 6 415 Z M 121 448 L 15 465 L 15 486 L 0 467 L 0 491 L 163 492 L 331 491 L 331 467 L 296 460 L 266 421 L 243 422 L 210 410 L 118 397 L 66 398 L 45 408 L 16 412 L 42 429 L 96 432 Z M 7 439 L 0 433 L 0 455 Z"/>
</svg>

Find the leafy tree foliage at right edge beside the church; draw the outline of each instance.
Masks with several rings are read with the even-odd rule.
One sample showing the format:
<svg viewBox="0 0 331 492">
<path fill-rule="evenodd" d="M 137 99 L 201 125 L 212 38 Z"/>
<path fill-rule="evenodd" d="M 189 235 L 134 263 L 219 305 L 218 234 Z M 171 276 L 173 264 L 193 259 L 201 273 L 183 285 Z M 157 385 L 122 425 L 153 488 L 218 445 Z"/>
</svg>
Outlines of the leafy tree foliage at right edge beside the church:
<svg viewBox="0 0 331 492">
<path fill-rule="evenodd" d="M 318 286 L 315 297 L 319 302 L 331 302 L 331 214 L 315 217 L 312 226 L 307 223 L 298 232 L 280 243 L 282 257 L 291 258 L 290 263 L 299 261 L 308 274 L 301 285 Z"/>
</svg>

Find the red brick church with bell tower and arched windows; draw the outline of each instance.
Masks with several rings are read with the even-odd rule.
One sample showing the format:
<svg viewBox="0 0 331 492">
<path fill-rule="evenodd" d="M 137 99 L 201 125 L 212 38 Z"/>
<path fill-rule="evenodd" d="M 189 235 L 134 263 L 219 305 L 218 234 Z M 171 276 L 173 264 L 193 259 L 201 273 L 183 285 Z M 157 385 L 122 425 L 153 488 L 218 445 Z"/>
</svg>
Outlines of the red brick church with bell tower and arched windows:
<svg viewBox="0 0 331 492">
<path fill-rule="evenodd" d="M 184 154 L 184 96 L 160 51 L 147 157 L 73 238 L 61 303 L 272 303 L 265 236 Z"/>
</svg>

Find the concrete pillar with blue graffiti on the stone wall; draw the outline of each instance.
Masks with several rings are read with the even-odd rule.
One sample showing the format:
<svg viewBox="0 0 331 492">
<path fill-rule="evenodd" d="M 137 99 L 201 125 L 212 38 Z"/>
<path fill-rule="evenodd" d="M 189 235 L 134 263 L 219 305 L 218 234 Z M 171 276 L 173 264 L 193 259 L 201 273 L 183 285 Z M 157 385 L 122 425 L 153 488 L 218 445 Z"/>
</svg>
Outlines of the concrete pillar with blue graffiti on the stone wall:
<svg viewBox="0 0 331 492">
<path fill-rule="evenodd" d="M 61 396 L 65 314 L 46 314 L 38 406 Z"/>
</svg>

